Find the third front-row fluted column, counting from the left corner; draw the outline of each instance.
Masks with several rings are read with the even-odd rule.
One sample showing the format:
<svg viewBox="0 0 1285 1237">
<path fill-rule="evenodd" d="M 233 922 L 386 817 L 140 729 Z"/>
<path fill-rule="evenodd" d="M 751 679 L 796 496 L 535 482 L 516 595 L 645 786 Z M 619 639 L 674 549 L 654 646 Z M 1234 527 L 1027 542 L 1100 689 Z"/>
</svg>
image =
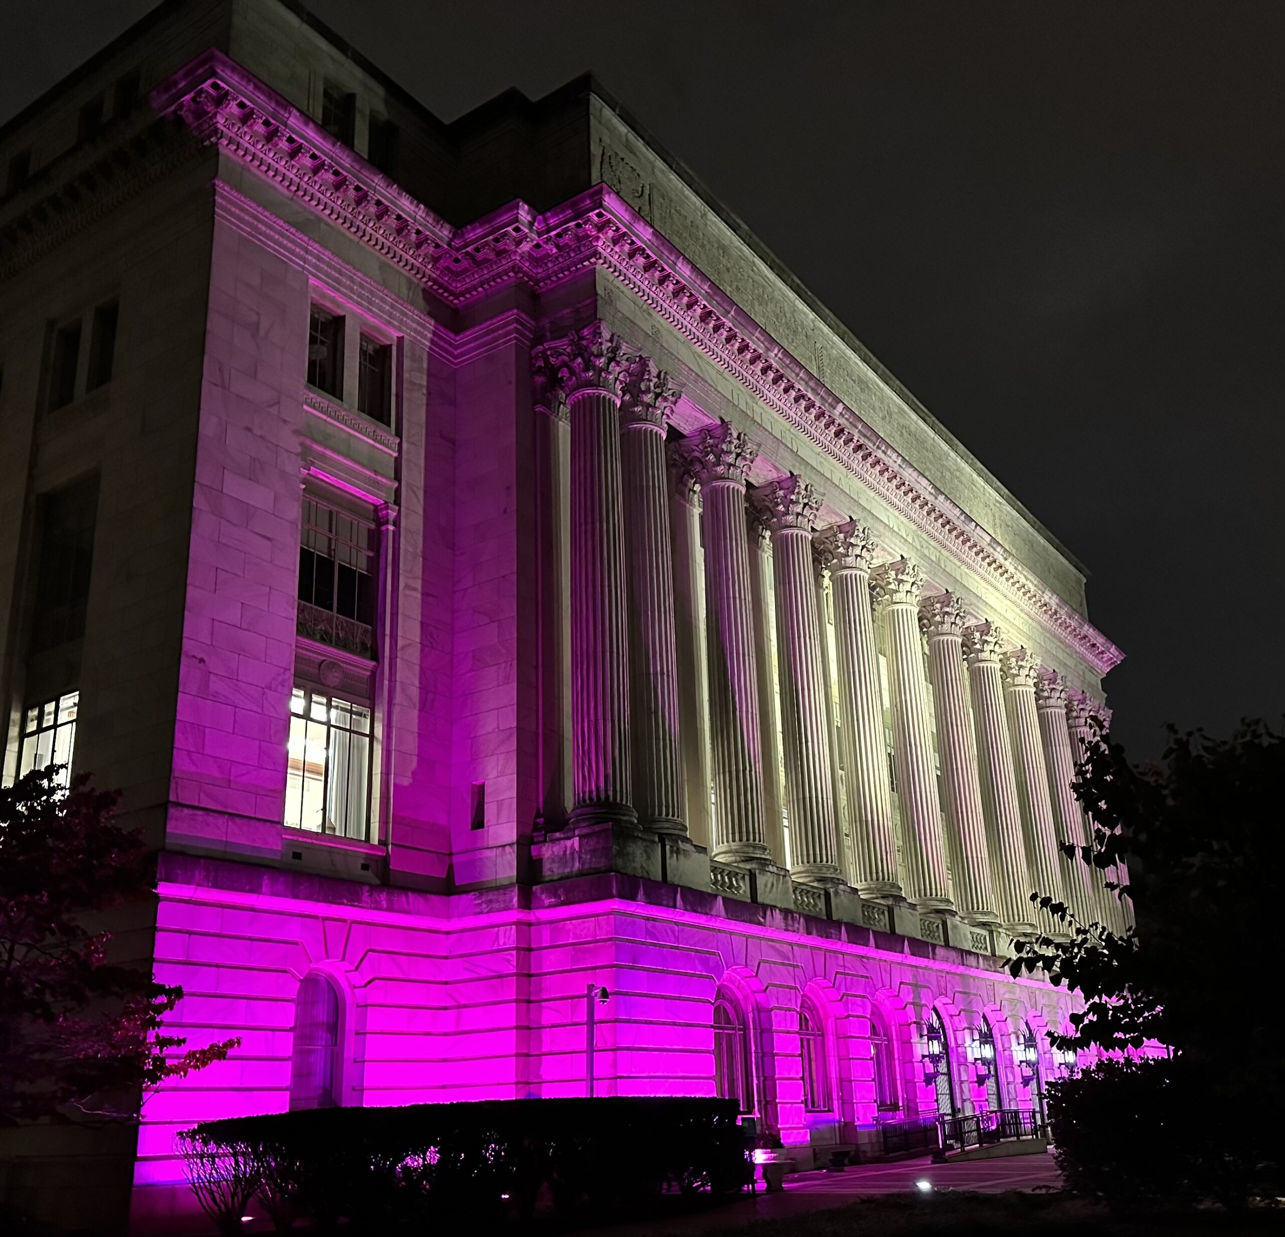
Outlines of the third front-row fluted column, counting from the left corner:
<svg viewBox="0 0 1285 1237">
<path fill-rule="evenodd" d="M 713 858 L 768 863 L 758 676 L 745 540 L 745 475 L 757 455 L 726 421 L 695 435 L 689 460 L 700 480 L 705 545 L 705 635 L 714 784 Z"/>
</svg>

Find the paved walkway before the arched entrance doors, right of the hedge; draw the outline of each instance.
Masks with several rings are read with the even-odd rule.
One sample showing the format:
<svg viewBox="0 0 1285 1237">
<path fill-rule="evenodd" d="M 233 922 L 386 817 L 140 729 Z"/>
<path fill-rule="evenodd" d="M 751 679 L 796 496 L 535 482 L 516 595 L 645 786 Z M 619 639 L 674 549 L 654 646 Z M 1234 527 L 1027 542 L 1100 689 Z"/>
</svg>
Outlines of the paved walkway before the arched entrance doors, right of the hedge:
<svg viewBox="0 0 1285 1237">
<path fill-rule="evenodd" d="M 1019 1155 L 996 1160 L 971 1160 L 965 1164 L 933 1164 L 929 1157 L 901 1160 L 897 1164 L 858 1164 L 842 1173 L 797 1173 L 785 1178 L 781 1193 L 758 1193 L 712 1211 L 650 1220 L 604 1229 L 601 1237 L 642 1237 L 664 1233 L 666 1237 L 708 1233 L 732 1228 L 750 1220 L 776 1219 L 839 1207 L 870 1195 L 907 1193 L 928 1182 L 935 1191 L 968 1189 L 997 1195 L 1007 1189 L 1060 1189 L 1061 1178 L 1051 1155 Z M 590 1237 L 590 1234 L 585 1234 Z"/>
</svg>

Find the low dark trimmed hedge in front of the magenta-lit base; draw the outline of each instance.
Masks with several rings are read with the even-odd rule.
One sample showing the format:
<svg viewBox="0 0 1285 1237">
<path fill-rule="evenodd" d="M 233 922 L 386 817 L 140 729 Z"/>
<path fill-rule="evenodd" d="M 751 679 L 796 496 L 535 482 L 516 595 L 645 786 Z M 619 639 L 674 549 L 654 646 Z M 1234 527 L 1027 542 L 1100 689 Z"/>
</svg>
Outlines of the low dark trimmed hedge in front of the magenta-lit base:
<svg viewBox="0 0 1285 1237">
<path fill-rule="evenodd" d="M 388 1232 L 427 1220 L 598 1218 L 664 1192 L 738 1189 L 750 1165 L 734 1101 L 508 1100 L 317 1109 L 207 1121 L 181 1136 L 193 1189 L 222 1231 L 258 1197 Z"/>
</svg>

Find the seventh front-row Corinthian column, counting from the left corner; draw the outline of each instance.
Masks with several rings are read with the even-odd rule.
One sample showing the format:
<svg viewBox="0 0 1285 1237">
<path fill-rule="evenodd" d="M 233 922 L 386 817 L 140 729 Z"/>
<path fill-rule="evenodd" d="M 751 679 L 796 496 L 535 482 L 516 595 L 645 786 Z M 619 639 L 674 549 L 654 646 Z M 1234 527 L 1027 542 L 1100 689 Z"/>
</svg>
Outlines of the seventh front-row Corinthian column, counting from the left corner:
<svg viewBox="0 0 1285 1237">
<path fill-rule="evenodd" d="M 955 906 L 970 924 L 998 924 L 991 891 L 977 736 L 964 676 L 964 606 L 959 597 L 943 593 L 926 597 L 920 615 L 928 636 L 928 677 L 937 714 L 937 754 L 946 791 L 946 850 Z"/>
</svg>

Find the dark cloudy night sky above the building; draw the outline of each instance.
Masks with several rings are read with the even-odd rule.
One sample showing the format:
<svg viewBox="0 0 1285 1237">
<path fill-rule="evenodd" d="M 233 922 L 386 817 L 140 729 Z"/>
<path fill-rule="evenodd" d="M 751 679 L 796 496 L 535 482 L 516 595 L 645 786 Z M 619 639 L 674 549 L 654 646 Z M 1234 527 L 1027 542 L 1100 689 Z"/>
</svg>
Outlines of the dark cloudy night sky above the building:
<svg viewBox="0 0 1285 1237">
<path fill-rule="evenodd" d="M 0 118 L 150 0 L 5 0 Z M 1285 712 L 1285 4 L 312 0 L 443 119 L 592 68 L 1092 570 L 1115 733 Z"/>
</svg>

